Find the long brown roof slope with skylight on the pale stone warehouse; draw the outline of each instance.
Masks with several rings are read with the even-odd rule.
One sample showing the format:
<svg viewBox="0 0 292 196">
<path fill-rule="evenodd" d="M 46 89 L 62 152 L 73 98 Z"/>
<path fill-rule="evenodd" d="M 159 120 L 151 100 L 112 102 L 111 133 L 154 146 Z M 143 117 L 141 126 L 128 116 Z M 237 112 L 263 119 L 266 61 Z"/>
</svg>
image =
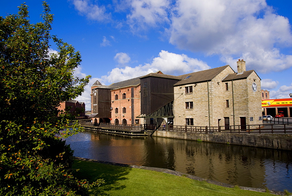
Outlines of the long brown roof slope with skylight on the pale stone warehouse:
<svg viewBox="0 0 292 196">
<path fill-rule="evenodd" d="M 180 75 L 179 77 L 182 78 L 181 81 L 177 82 L 173 86 L 180 86 L 184 84 L 192 84 L 192 83 L 197 83 L 197 82 L 204 82 L 213 79 L 215 76 L 217 76 L 220 72 L 222 72 L 224 69 L 227 67 L 230 67 L 229 65 L 225 65 L 222 67 L 216 67 L 213 69 L 209 70 L 203 70 L 199 72 L 193 72 L 189 74 L 183 74 Z M 190 76 L 188 79 L 185 79 L 186 77 Z"/>
</svg>

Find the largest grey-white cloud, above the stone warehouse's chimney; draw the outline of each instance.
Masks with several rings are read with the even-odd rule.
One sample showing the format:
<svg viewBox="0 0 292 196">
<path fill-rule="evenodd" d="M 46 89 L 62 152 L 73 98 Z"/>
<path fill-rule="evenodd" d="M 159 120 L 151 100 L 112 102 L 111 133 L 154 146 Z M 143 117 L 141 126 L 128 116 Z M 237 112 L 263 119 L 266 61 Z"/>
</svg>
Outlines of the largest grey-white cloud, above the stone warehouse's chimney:
<svg viewBox="0 0 292 196">
<path fill-rule="evenodd" d="M 241 58 L 262 73 L 292 66 L 279 48 L 292 44 L 289 21 L 265 0 L 182 0 L 173 13 L 170 42 L 179 48 L 217 54 L 233 68 Z"/>
</svg>

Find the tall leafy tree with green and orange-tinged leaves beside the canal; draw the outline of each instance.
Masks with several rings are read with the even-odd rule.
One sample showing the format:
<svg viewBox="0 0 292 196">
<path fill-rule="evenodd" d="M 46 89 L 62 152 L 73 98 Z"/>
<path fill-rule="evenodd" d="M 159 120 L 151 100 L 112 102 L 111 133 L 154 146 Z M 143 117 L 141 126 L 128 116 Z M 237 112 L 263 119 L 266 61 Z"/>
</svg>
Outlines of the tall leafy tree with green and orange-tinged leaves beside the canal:
<svg viewBox="0 0 292 196">
<path fill-rule="evenodd" d="M 53 15 L 43 7 L 36 24 L 25 4 L 0 17 L 0 195 L 70 195 L 103 183 L 71 174 L 73 151 L 61 139 L 82 129 L 57 107 L 81 95 L 90 76 L 73 77 L 80 53 L 50 35 Z"/>
</svg>

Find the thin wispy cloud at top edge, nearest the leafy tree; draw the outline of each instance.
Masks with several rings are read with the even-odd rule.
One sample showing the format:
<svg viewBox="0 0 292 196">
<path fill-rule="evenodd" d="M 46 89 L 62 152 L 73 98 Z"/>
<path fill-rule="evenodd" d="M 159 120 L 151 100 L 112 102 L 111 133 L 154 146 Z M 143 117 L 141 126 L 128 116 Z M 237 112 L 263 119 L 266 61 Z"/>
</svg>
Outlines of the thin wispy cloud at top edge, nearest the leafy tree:
<svg viewBox="0 0 292 196">
<path fill-rule="evenodd" d="M 77 9 L 81 15 L 86 15 L 88 19 L 103 22 L 109 22 L 111 20 L 111 14 L 106 13 L 105 6 L 98 6 L 88 2 L 88 0 L 73 0 L 75 9 Z"/>
</svg>

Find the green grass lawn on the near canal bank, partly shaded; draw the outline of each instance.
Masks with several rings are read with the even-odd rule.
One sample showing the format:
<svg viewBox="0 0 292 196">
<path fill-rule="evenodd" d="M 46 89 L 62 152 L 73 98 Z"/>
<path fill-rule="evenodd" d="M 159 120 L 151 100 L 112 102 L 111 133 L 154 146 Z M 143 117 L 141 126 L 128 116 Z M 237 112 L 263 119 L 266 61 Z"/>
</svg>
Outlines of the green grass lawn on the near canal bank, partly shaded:
<svg viewBox="0 0 292 196">
<path fill-rule="evenodd" d="M 272 195 L 225 188 L 163 172 L 80 160 L 74 161 L 73 169 L 80 169 L 74 174 L 79 179 L 105 180 L 100 187 L 88 190 L 89 195 Z"/>
</svg>

